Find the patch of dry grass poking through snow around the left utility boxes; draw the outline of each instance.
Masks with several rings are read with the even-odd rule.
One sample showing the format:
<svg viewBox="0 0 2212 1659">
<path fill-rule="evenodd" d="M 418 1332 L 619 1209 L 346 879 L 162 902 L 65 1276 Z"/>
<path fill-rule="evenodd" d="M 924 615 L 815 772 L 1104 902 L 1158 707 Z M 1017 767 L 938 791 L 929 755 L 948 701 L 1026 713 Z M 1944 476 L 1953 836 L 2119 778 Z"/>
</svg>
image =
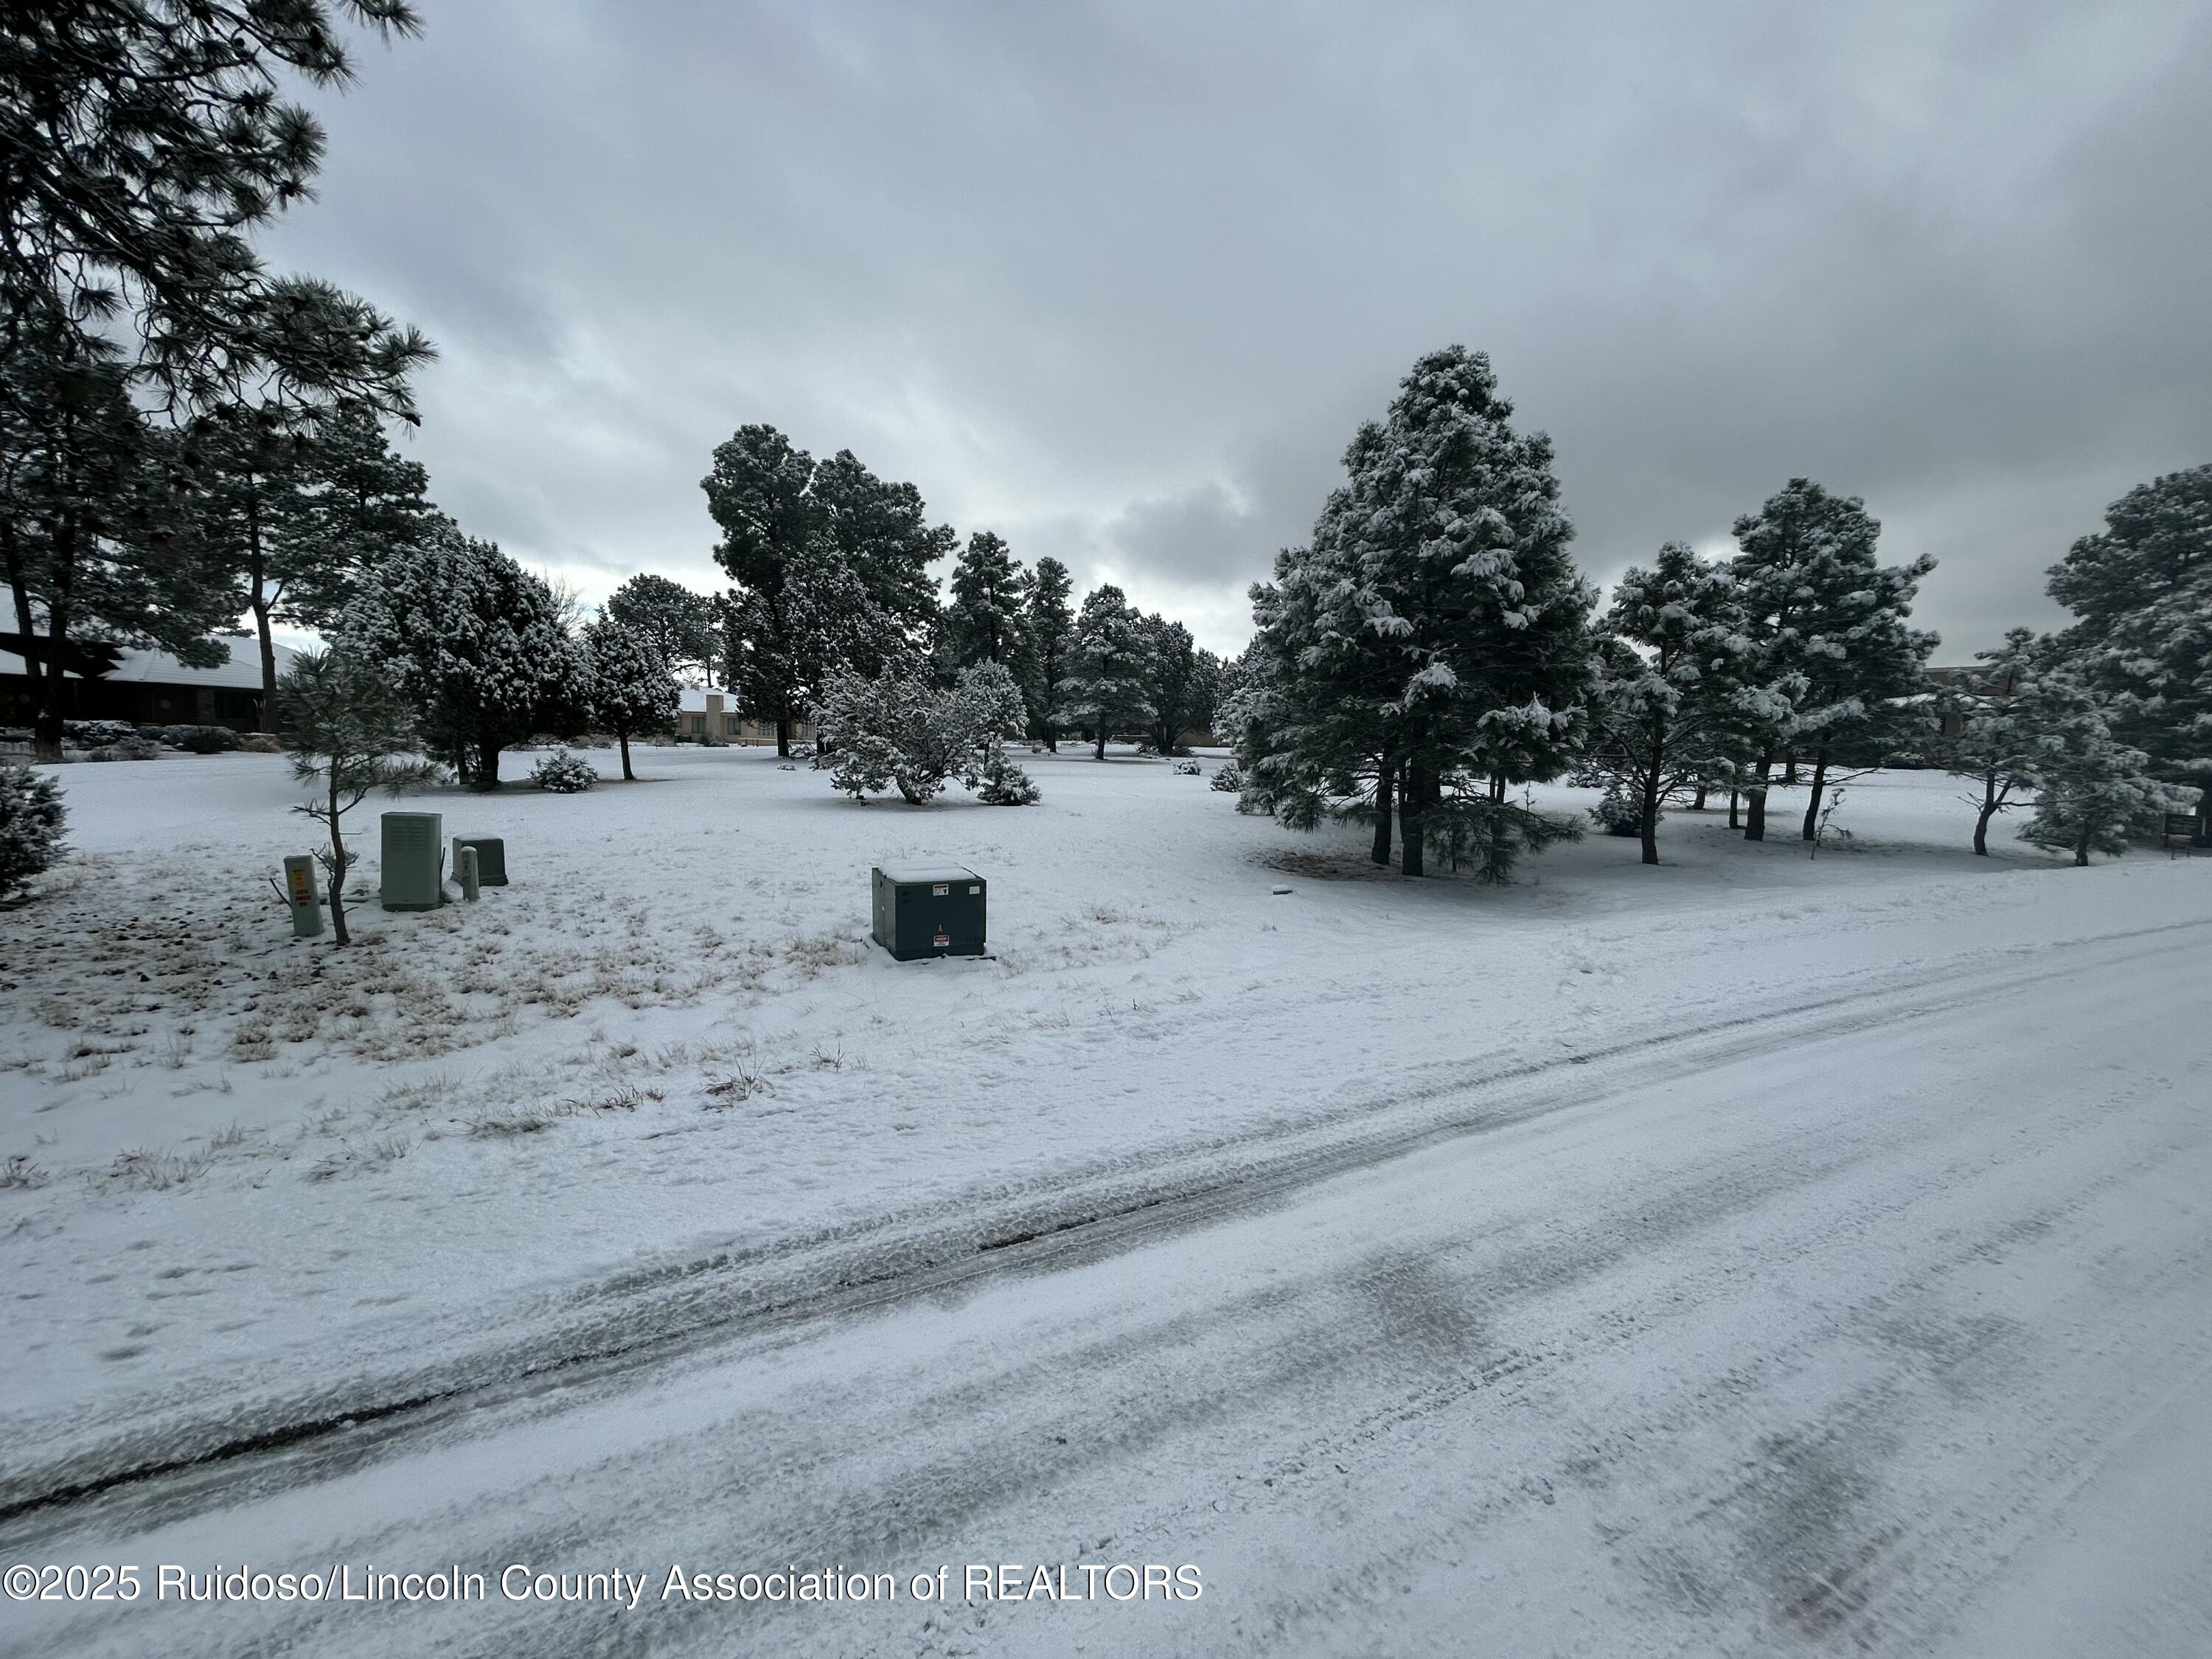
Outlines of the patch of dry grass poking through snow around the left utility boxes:
<svg viewBox="0 0 2212 1659">
<path fill-rule="evenodd" d="M 400 916 L 354 902 L 356 945 L 338 951 L 294 942 L 257 880 L 210 860 L 82 860 L 80 880 L 0 916 L 0 1009 L 60 1037 L 9 1064 L 80 1082 L 126 1057 L 170 1071 L 197 1055 L 420 1060 L 597 1000 L 750 1004 L 867 956 L 858 929 L 732 940 L 679 894 L 489 889 L 473 907 Z M 7 1009 L 33 989 L 31 1009 Z"/>
</svg>

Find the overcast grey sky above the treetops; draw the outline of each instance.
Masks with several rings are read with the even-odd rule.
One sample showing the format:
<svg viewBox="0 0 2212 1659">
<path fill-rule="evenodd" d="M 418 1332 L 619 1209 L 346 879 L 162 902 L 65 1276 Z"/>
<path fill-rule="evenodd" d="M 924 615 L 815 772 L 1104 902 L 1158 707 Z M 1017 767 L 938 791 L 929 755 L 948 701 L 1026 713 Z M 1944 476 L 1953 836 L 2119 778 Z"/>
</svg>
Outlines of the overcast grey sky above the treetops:
<svg viewBox="0 0 2212 1659">
<path fill-rule="evenodd" d="M 1597 580 L 1785 478 L 1942 661 L 2212 460 L 2212 4 L 418 0 L 265 239 L 420 325 L 403 438 L 597 599 L 765 420 L 1201 644 L 1453 341 Z"/>
</svg>

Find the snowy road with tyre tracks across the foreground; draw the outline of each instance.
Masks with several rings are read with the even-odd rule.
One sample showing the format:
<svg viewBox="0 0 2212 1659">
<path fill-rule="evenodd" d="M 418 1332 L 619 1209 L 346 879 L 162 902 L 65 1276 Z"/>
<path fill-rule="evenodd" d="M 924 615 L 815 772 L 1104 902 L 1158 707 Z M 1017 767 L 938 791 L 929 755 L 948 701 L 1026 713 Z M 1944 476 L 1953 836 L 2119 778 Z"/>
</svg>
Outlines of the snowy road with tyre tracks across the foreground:
<svg viewBox="0 0 2212 1659">
<path fill-rule="evenodd" d="M 2203 949 L 1438 1082 L 787 1263 L 785 1307 L 633 1290 L 653 1352 L 18 1513 L 7 1562 L 148 1597 L 0 1608 L 0 1650 L 2205 1652 Z M 155 1606 L 164 1562 L 489 1593 Z M 785 1562 L 900 1599 L 661 1595 Z M 1203 1595 L 960 1601 L 967 1564 L 1086 1562 Z M 507 1564 L 648 1588 L 518 1604 Z M 953 1606 L 916 1606 L 938 1566 Z"/>
</svg>

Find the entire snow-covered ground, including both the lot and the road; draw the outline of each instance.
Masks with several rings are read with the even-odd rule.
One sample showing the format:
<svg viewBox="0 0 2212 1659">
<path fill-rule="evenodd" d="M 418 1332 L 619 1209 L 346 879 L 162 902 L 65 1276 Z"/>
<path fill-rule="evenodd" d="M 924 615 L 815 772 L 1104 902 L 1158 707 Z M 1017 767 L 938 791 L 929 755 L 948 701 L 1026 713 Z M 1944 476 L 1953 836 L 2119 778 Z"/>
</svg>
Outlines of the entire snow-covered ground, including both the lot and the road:
<svg viewBox="0 0 2212 1659">
<path fill-rule="evenodd" d="M 1880 774 L 1818 858 L 1778 794 L 1765 845 L 1677 814 L 1657 869 L 1593 834 L 1484 889 L 1133 757 L 1024 757 L 1026 810 L 639 761 L 407 801 L 513 885 L 356 951 L 263 880 L 281 759 L 64 772 L 84 856 L 0 914 L 7 1562 L 1208 1584 L 1051 1628 L 153 1613 L 175 1652 L 2208 1639 L 2201 1551 L 2126 1537 L 2212 1473 L 2161 1427 L 2212 1360 L 2212 860 L 1973 858 L 1962 785 Z M 916 860 L 991 878 L 993 960 L 869 949 Z M 2097 1515 L 2137 1520 L 2066 1542 Z M 2057 1608 L 2008 1626 L 2031 1559 Z"/>
</svg>

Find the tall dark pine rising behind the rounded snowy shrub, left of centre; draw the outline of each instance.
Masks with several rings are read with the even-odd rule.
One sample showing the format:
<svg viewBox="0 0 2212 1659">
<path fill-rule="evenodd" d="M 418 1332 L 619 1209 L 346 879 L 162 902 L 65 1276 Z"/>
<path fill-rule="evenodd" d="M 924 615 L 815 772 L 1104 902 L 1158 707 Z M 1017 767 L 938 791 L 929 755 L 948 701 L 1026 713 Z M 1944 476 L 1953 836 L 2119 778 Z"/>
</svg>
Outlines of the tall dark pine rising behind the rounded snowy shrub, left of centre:
<svg viewBox="0 0 2212 1659">
<path fill-rule="evenodd" d="M 849 449 L 816 462 L 765 425 L 719 445 L 701 489 L 721 526 L 714 560 L 743 588 L 732 611 L 741 697 L 776 721 L 787 754 L 790 726 L 827 675 L 872 675 L 927 646 L 938 608 L 929 564 L 956 538 L 927 522 L 914 484 L 876 478 Z"/>
</svg>

